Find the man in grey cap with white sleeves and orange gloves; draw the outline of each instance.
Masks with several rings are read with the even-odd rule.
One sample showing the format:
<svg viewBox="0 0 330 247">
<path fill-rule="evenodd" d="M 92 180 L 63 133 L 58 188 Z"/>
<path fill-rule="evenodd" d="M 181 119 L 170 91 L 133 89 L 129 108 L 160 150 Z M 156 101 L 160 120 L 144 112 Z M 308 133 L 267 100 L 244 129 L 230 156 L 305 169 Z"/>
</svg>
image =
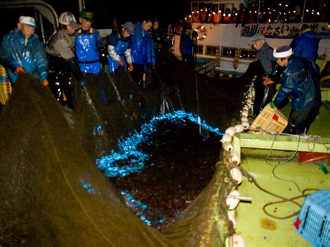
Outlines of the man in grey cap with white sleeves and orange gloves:
<svg viewBox="0 0 330 247">
<path fill-rule="evenodd" d="M 127 67 L 129 72 L 133 71 L 131 56 L 130 35 L 134 35 L 134 24 L 126 22 L 121 32 L 113 32 L 108 38 L 109 71 L 115 72 L 118 67 Z"/>
</svg>

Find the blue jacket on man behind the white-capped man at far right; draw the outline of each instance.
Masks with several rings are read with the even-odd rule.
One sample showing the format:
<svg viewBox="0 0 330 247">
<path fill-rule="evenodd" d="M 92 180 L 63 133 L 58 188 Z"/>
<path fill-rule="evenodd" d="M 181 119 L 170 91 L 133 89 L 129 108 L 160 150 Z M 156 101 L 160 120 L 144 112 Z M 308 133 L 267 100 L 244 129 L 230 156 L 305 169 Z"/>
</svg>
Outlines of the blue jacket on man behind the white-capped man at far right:
<svg viewBox="0 0 330 247">
<path fill-rule="evenodd" d="M 301 33 L 297 38 L 293 54 L 294 56 L 301 56 L 303 58 L 309 58 L 311 61 L 315 61 L 317 58 L 317 50 L 319 48 L 317 39 L 312 31 L 306 31 Z"/>
</svg>

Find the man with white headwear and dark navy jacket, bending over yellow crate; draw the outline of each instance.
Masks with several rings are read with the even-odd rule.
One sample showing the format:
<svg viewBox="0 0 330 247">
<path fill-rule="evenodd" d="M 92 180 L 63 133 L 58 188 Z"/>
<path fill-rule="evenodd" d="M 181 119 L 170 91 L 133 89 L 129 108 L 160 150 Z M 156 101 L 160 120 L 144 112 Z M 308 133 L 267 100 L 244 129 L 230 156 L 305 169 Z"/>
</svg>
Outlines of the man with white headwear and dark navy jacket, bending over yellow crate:
<svg viewBox="0 0 330 247">
<path fill-rule="evenodd" d="M 321 106 L 320 71 L 313 61 L 292 56 L 289 46 L 276 48 L 274 57 L 279 66 L 285 67 L 274 106 L 281 109 L 289 97 L 292 100 L 288 127 L 284 132 L 306 134 Z"/>
</svg>

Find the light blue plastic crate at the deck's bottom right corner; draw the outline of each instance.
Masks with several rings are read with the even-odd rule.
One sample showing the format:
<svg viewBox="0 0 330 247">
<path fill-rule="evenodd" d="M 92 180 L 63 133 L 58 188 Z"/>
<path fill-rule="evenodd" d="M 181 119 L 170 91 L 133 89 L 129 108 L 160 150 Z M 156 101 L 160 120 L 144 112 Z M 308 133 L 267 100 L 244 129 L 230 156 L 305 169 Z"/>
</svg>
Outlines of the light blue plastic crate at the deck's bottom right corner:
<svg viewBox="0 0 330 247">
<path fill-rule="evenodd" d="M 306 197 L 293 228 L 314 246 L 330 246 L 330 190 Z"/>
</svg>

